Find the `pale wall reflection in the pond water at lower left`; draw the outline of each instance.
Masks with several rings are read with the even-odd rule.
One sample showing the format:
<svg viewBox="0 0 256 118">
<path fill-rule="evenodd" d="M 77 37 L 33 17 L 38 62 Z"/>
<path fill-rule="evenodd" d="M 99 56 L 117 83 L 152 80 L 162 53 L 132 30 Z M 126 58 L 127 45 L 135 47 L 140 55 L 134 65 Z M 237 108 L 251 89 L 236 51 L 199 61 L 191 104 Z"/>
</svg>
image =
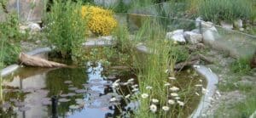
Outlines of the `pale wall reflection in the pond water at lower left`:
<svg viewBox="0 0 256 118">
<path fill-rule="evenodd" d="M 19 88 L 20 91 L 26 92 L 26 95 L 22 97 L 24 98 L 22 100 L 22 103 L 24 103 L 24 105 L 20 107 L 14 106 L 14 110 L 17 113 L 18 118 L 41 118 L 47 117 L 49 115 L 47 112 L 47 106 L 40 104 L 42 98 L 46 98 L 48 94 L 48 91 L 43 89 L 46 87 L 45 81 L 46 73 L 29 76 L 26 78 L 20 78 L 20 76 L 15 76 L 13 81 L 6 81 L 4 79 L 4 86 Z M 15 100 L 17 99 L 18 98 L 15 98 Z"/>
</svg>

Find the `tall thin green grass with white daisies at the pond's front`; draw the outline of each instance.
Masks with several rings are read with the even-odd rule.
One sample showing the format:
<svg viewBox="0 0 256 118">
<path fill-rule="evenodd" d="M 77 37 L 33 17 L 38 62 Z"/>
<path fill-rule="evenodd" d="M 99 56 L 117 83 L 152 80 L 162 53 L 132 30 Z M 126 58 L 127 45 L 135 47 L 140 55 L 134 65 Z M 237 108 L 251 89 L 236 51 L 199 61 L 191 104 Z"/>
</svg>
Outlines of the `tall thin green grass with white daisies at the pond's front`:
<svg viewBox="0 0 256 118">
<path fill-rule="evenodd" d="M 180 84 L 178 78 L 175 78 L 174 67 L 179 58 L 177 45 L 161 38 L 160 32 L 145 39 L 146 32 L 151 33 L 151 28 L 147 24 L 144 22 L 143 27 L 137 31 L 135 41 L 144 41 L 148 53 L 135 53 L 133 56 L 139 85 L 137 100 L 140 104 L 134 117 L 183 117 L 188 114 L 185 110 L 189 108 L 187 104 L 190 98 L 193 98 L 191 96 L 195 89 L 191 82 Z M 156 24 L 151 25 L 154 27 Z"/>
</svg>

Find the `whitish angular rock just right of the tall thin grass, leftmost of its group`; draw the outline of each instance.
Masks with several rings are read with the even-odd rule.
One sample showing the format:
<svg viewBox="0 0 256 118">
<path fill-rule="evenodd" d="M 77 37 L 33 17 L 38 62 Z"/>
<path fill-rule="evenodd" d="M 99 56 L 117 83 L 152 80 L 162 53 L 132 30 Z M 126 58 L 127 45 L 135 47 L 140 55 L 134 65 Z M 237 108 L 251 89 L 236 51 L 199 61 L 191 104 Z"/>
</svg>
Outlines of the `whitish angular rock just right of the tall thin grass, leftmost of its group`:
<svg viewBox="0 0 256 118">
<path fill-rule="evenodd" d="M 183 36 L 184 31 L 183 30 L 176 30 L 172 32 L 167 32 L 166 33 L 166 39 L 173 40 L 176 42 L 183 42 L 185 43 L 186 40 Z"/>
</svg>

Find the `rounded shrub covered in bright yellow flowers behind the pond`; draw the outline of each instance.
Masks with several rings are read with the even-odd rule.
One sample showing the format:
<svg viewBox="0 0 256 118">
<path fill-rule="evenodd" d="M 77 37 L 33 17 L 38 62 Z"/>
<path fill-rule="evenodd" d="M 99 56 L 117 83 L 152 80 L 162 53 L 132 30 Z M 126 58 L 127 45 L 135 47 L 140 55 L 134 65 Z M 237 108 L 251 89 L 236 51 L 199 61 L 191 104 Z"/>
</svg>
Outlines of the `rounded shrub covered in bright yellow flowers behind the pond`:
<svg viewBox="0 0 256 118">
<path fill-rule="evenodd" d="M 91 32 L 100 36 L 107 36 L 117 26 L 113 12 L 94 6 L 83 6 L 82 16 L 88 18 L 88 27 Z"/>
</svg>

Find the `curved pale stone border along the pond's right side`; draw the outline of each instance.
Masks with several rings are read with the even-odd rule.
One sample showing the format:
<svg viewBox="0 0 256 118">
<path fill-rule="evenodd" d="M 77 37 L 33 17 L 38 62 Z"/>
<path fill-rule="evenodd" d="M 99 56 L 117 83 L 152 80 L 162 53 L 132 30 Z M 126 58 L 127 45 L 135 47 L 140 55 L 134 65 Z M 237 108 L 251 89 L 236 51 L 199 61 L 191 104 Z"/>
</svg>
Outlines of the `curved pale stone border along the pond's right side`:
<svg viewBox="0 0 256 118">
<path fill-rule="evenodd" d="M 207 68 L 204 65 L 195 65 L 194 69 L 199 74 L 201 74 L 201 76 L 205 76 L 205 78 L 207 79 L 207 92 L 204 94 L 204 96 L 201 97 L 200 104 L 198 105 L 197 109 L 194 110 L 192 115 L 189 116 L 189 118 L 198 118 L 203 113 L 206 113 L 207 109 L 211 104 L 212 96 L 217 89 L 216 85 L 218 84 L 218 76 L 213 73 L 211 69 Z"/>
</svg>

